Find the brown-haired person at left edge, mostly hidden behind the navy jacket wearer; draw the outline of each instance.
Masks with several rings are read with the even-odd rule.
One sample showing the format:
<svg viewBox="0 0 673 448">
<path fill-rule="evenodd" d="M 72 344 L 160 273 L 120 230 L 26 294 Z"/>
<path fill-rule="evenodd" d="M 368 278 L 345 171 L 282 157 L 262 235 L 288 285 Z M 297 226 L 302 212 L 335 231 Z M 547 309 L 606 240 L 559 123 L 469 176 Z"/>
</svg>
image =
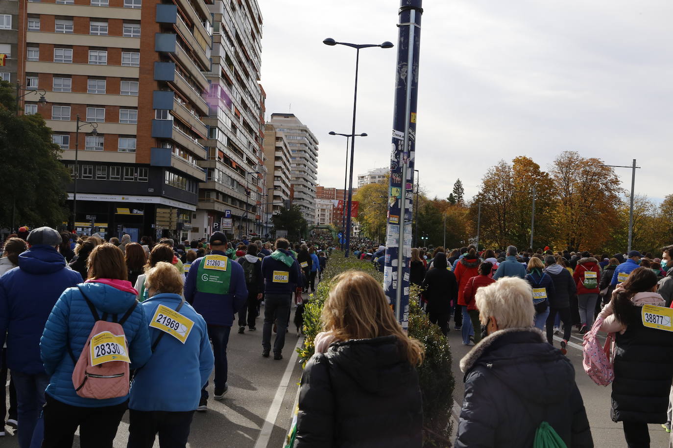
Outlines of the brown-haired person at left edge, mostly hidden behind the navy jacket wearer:
<svg viewBox="0 0 673 448">
<path fill-rule="evenodd" d="M 11 237 L 5 240 L 5 247 L 3 248 L 2 258 L 0 258 L 0 277 L 19 265 L 19 255 L 26 252 L 28 246 L 26 241 L 21 238 Z M 16 402 L 16 387 L 14 386 L 14 380 L 11 378 L 11 373 L 7 369 L 7 343 L 4 344 L 2 349 L 2 356 L 0 359 L 0 422 L 2 427 L 0 428 L 0 437 L 5 435 L 5 423 L 7 426 L 12 429 L 17 429 L 18 427 L 18 418 L 17 418 L 17 402 Z M 7 375 L 9 375 L 9 409 L 7 409 Z M 5 421 L 5 415 L 8 417 Z"/>
</svg>

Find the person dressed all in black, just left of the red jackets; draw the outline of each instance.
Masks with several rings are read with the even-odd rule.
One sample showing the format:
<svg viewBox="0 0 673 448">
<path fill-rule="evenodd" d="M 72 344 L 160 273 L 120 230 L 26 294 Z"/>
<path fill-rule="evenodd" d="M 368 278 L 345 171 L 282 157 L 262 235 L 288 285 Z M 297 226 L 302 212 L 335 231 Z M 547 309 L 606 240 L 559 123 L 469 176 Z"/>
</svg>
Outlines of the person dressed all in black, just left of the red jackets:
<svg viewBox="0 0 673 448">
<path fill-rule="evenodd" d="M 435 255 L 435 268 L 430 269 L 423 279 L 423 298 L 427 301 L 426 311 L 430 322 L 439 325 L 446 336 L 449 330 L 451 306 L 458 302 L 458 281 L 452 271 L 446 269 L 446 254 Z"/>
</svg>

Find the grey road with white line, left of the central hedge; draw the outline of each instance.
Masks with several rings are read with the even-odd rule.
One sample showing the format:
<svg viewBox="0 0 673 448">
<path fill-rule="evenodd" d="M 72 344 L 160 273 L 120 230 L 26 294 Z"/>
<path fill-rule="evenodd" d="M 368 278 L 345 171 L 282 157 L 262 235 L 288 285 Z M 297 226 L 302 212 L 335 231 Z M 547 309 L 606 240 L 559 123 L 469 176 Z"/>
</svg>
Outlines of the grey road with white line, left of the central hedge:
<svg viewBox="0 0 673 448">
<path fill-rule="evenodd" d="M 262 307 L 262 316 L 263 314 Z M 290 326 L 281 361 L 275 361 L 273 357 L 262 357 L 261 317 L 257 318 L 257 331 L 246 330 L 245 334 L 238 334 L 238 326 L 232 327 L 227 350 L 229 391 L 224 400 L 209 400 L 207 412 L 194 414 L 188 447 L 281 448 L 283 446 L 292 420 L 297 384 L 302 376 L 302 367 L 297 363 L 297 358 L 292 356 L 299 338 L 292 323 Z M 292 365 L 290 361 L 293 361 Z M 211 395 L 212 379 L 211 377 L 209 383 Z M 264 434 L 262 428 L 265 430 Z M 119 425 L 114 448 L 125 448 L 128 438 L 127 413 Z M 7 429 L 7 436 L 0 437 L 0 446 L 18 447 L 16 437 L 11 436 L 11 430 Z M 73 447 L 79 447 L 77 437 Z M 154 447 L 159 447 L 158 441 Z"/>
</svg>

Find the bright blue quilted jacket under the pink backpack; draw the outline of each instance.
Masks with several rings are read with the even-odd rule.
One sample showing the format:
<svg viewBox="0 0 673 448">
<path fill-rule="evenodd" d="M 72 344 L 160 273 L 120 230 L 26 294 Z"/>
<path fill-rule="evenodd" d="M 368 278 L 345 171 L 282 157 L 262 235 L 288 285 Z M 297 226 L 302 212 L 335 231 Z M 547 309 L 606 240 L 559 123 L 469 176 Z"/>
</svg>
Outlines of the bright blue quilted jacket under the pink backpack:
<svg viewBox="0 0 673 448">
<path fill-rule="evenodd" d="M 107 320 L 110 322 L 112 314 L 116 314 L 120 319 L 135 302 L 137 293 L 129 281 L 109 279 L 101 281 L 106 283 L 100 283 L 98 280 L 87 281 L 77 285 L 78 287 L 66 289 L 49 315 L 40 339 L 44 370 L 51 377 L 46 393 L 71 406 L 100 408 L 121 404 L 129 398 L 128 396 L 106 400 L 83 398 L 77 395 L 73 386 L 75 363 L 68 353 L 68 347 L 73 351 L 75 359 L 79 359 L 95 324 L 94 316 L 79 288 L 84 290 L 87 298 L 94 304 L 98 316 L 102 318 L 103 313 L 108 313 Z M 136 306 L 122 328 L 128 343 L 130 367 L 137 369 L 152 355 L 143 307 Z"/>
</svg>

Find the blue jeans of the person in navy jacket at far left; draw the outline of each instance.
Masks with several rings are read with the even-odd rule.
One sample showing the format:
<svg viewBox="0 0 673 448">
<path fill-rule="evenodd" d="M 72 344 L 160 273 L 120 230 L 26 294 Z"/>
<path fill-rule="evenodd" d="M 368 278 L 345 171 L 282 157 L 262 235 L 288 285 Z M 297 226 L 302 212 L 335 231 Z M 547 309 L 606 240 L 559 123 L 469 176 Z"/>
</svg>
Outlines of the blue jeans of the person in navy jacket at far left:
<svg viewBox="0 0 673 448">
<path fill-rule="evenodd" d="M 44 390 L 49 385 L 46 373 L 23 373 L 11 371 L 16 387 L 17 414 L 21 425 L 19 447 L 30 448 L 38 417 L 44 405 Z"/>
</svg>

